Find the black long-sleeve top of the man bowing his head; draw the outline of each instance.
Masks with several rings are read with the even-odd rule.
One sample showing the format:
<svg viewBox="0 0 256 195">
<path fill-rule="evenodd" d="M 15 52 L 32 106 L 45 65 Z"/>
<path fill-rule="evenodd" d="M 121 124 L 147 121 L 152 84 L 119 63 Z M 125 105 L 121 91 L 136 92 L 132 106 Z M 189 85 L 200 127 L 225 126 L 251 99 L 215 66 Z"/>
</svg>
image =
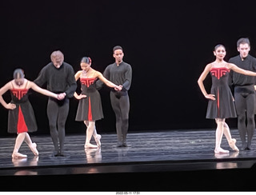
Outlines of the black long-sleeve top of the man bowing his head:
<svg viewBox="0 0 256 195">
<path fill-rule="evenodd" d="M 73 67 L 63 62 L 62 66 L 56 68 L 53 62 L 50 62 L 40 71 L 38 78 L 34 80 L 38 86 L 47 84 L 47 90 L 56 94 L 66 93 L 66 98 L 72 98 L 77 89 L 77 82 L 74 78 Z"/>
</svg>

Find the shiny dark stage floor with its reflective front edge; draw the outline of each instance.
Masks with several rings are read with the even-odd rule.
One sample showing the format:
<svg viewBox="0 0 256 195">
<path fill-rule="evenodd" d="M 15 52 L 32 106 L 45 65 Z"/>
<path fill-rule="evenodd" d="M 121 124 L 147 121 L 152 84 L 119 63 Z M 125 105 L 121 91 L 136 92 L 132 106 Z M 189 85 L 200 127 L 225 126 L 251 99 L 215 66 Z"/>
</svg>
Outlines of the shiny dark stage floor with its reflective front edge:
<svg viewBox="0 0 256 195">
<path fill-rule="evenodd" d="M 0 176 L 78 176 L 117 173 L 202 173 L 214 170 L 255 169 L 256 150 L 234 152 L 223 137 L 222 148 L 228 154 L 214 154 L 215 129 L 178 129 L 130 132 L 127 148 L 117 148 L 115 133 L 101 133 L 101 149 L 84 149 L 84 134 L 66 134 L 66 156 L 54 157 L 50 135 L 31 135 L 38 144 L 34 157 L 23 143 L 20 153 L 25 159 L 12 159 L 15 137 L 0 138 Z M 241 146 L 238 130 L 231 134 Z M 256 149 L 255 139 L 253 147 Z M 94 139 L 92 141 L 94 142 Z M 95 174 L 94 174 L 95 173 Z M 151 175 L 152 175 L 151 174 Z M 136 175 L 137 176 L 137 175 Z M 146 174 L 144 174 L 146 176 Z M 47 177 L 48 178 L 48 177 Z"/>
</svg>

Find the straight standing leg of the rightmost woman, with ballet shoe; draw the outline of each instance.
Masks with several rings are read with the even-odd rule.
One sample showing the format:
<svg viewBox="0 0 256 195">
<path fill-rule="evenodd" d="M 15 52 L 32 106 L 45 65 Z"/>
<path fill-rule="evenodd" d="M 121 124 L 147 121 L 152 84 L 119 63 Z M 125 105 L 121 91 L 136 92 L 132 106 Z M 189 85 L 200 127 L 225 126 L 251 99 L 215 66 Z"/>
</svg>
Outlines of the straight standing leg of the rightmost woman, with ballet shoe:
<svg viewBox="0 0 256 195">
<path fill-rule="evenodd" d="M 222 136 L 223 136 L 223 133 L 224 133 L 225 119 L 216 118 L 215 121 L 217 123 L 217 129 L 216 129 L 216 133 L 215 133 L 215 149 L 214 149 L 214 153 L 229 153 L 228 150 L 225 150 L 225 149 L 221 148 Z"/>
</svg>

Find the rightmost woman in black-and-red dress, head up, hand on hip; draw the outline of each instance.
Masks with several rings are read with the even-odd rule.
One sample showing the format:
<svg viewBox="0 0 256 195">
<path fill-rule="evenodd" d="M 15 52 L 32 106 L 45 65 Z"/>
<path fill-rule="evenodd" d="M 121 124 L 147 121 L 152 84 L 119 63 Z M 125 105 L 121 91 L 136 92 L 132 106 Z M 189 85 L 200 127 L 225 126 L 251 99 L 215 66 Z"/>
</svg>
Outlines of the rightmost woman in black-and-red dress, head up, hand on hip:
<svg viewBox="0 0 256 195">
<path fill-rule="evenodd" d="M 232 63 L 225 62 L 226 49 L 222 45 L 215 46 L 214 55 L 216 56 L 216 60 L 206 66 L 198 79 L 198 85 L 202 94 L 209 99 L 206 118 L 215 119 L 217 123 L 214 153 L 229 153 L 229 150 L 221 148 L 223 133 L 231 149 L 239 151 L 238 147 L 235 145 L 236 140 L 231 137 L 229 126 L 225 122 L 226 118 L 237 117 L 234 107 L 234 98 L 228 86 L 228 77 L 230 70 L 250 76 L 256 76 L 256 73 L 243 70 Z M 203 81 L 209 73 L 212 77 L 212 86 L 210 94 L 207 94 Z"/>
</svg>

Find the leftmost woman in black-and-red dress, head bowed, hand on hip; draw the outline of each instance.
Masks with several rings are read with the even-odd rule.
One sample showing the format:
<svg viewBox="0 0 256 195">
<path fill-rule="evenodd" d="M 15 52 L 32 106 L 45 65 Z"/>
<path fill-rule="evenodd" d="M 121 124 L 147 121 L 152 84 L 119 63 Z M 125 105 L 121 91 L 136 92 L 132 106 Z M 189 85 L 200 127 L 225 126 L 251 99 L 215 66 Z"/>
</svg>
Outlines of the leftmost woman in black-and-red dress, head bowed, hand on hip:
<svg viewBox="0 0 256 195">
<path fill-rule="evenodd" d="M 30 135 L 28 134 L 28 132 L 34 132 L 38 129 L 34 117 L 34 110 L 28 99 L 28 90 L 30 89 L 46 96 L 58 98 L 57 94 L 43 90 L 34 84 L 34 82 L 30 82 L 24 78 L 24 73 L 21 69 L 14 70 L 14 80 L 6 83 L 6 85 L 0 89 L 0 103 L 6 109 L 9 109 L 8 132 L 18 133 L 12 154 L 14 158 L 27 157 L 22 153 L 18 153 L 18 149 L 21 147 L 24 140 L 34 155 L 38 155 L 37 145 L 31 141 Z M 9 104 L 2 98 L 2 94 L 5 94 L 7 90 L 10 90 L 11 94 Z"/>
</svg>

